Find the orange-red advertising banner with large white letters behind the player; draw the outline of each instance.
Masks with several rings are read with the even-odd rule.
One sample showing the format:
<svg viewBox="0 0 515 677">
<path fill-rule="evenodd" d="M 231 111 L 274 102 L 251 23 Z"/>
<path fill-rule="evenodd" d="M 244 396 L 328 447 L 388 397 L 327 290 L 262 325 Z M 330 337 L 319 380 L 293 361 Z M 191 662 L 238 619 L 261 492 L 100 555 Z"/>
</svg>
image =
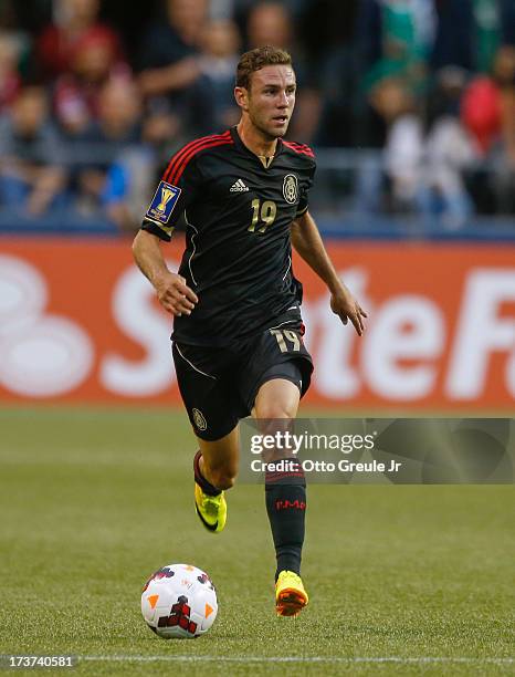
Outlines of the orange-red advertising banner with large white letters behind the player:
<svg viewBox="0 0 515 677">
<path fill-rule="evenodd" d="M 182 243 L 169 246 L 177 268 Z M 368 311 L 360 338 L 298 260 L 306 403 L 515 413 L 513 244 L 330 243 Z M 180 400 L 171 320 L 133 263 L 129 241 L 0 239 L 0 402 Z"/>
</svg>

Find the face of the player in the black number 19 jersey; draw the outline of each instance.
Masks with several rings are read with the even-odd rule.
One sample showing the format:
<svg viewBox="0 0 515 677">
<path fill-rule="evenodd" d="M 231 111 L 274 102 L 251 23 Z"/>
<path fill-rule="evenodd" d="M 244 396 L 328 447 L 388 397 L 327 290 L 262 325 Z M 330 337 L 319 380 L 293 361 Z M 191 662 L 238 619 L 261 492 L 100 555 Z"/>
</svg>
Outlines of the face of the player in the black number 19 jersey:
<svg viewBox="0 0 515 677">
<path fill-rule="evenodd" d="M 248 113 L 269 138 L 286 134 L 295 106 L 295 73 L 288 65 L 269 65 L 251 76 Z"/>
</svg>

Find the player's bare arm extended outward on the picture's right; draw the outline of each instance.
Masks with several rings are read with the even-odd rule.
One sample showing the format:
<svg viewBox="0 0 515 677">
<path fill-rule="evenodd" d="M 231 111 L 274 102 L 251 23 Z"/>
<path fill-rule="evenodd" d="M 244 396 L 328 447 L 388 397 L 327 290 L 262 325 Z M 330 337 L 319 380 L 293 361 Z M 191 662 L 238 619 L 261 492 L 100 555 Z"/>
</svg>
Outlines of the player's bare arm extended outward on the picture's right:
<svg viewBox="0 0 515 677">
<path fill-rule="evenodd" d="M 330 292 L 332 311 L 340 317 L 344 324 L 350 320 L 356 332 L 361 336 L 365 330 L 362 319 L 367 317 L 367 313 L 338 278 L 315 220 L 307 210 L 292 221 L 290 232 L 294 249 L 327 284 Z"/>
</svg>

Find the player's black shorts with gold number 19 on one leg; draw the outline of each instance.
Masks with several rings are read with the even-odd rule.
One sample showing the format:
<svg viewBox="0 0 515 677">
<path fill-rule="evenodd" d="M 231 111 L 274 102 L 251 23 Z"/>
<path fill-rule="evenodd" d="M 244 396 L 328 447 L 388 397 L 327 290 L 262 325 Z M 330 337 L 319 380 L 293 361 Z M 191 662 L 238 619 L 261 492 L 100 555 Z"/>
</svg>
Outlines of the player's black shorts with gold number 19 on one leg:
<svg viewBox="0 0 515 677">
<path fill-rule="evenodd" d="M 249 416 L 260 387 L 285 378 L 301 390 L 309 387 L 313 362 L 302 340 L 301 326 L 272 327 L 231 347 L 206 347 L 174 342 L 177 383 L 201 439 L 228 435 Z"/>
</svg>

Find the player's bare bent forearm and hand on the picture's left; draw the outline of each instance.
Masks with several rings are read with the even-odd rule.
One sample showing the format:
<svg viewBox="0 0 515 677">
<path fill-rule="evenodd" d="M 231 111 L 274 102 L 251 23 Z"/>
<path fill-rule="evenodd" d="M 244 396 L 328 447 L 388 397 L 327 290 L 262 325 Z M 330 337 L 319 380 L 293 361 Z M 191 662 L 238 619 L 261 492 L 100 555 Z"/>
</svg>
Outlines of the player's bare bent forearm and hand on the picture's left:
<svg viewBox="0 0 515 677">
<path fill-rule="evenodd" d="M 198 303 L 197 294 L 186 284 L 185 278 L 168 269 L 160 243 L 154 233 L 139 230 L 133 242 L 134 260 L 153 284 L 165 310 L 172 315 L 190 315 Z"/>
</svg>

